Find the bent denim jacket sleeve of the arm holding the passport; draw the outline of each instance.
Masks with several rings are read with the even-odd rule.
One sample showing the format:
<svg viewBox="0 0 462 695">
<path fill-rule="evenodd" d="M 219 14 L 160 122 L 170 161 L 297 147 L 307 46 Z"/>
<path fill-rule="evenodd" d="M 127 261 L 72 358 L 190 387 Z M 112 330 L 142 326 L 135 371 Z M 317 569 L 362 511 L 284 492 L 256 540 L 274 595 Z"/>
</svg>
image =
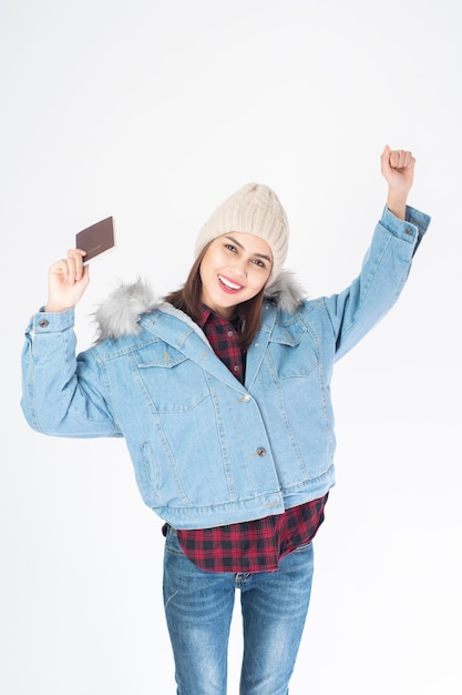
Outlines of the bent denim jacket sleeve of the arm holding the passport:
<svg viewBox="0 0 462 695">
<path fill-rule="evenodd" d="M 21 407 L 29 425 L 54 436 L 119 436 L 99 366 L 78 361 L 74 312 L 39 312 L 25 331 Z"/>
</svg>

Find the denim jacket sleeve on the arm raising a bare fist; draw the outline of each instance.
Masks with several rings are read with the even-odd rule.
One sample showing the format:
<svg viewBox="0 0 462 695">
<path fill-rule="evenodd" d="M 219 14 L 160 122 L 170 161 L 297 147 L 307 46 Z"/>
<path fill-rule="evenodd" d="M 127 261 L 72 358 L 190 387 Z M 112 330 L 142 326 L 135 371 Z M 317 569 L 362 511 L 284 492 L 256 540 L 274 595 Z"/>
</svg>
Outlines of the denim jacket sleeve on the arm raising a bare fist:
<svg viewBox="0 0 462 695">
<path fill-rule="evenodd" d="M 429 215 L 410 207 L 405 220 L 383 210 L 359 275 L 346 290 L 324 300 L 335 331 L 337 360 L 393 306 L 429 223 Z"/>
</svg>

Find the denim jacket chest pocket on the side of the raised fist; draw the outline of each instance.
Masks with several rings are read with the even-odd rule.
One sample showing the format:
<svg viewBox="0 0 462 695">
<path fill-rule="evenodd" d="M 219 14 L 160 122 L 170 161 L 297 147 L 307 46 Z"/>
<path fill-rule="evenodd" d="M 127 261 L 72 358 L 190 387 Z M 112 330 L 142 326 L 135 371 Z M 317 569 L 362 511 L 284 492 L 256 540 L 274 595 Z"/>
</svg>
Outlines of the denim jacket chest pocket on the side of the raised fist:
<svg viewBox="0 0 462 695">
<path fill-rule="evenodd" d="M 316 339 L 302 321 L 275 326 L 268 355 L 280 380 L 309 376 L 319 364 Z"/>
</svg>

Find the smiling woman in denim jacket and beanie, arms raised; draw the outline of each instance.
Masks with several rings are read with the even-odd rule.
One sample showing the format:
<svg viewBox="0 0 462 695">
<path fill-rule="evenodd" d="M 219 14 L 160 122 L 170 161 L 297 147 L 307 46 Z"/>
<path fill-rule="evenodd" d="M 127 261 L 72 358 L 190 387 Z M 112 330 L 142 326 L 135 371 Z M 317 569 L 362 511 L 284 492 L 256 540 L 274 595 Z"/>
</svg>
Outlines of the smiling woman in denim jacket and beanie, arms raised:
<svg viewBox="0 0 462 695">
<path fill-rule="evenodd" d="M 213 213 L 185 285 L 119 288 L 75 357 L 84 252 L 54 263 L 23 352 L 24 415 L 50 435 L 125 437 L 164 521 L 164 604 L 177 693 L 226 692 L 242 591 L 242 695 L 283 695 L 308 611 L 312 538 L 333 475 L 336 360 L 393 305 L 429 218 L 407 207 L 414 159 L 386 147 L 388 199 L 358 278 L 306 300 L 284 271 L 286 213 L 247 184 Z"/>
</svg>

